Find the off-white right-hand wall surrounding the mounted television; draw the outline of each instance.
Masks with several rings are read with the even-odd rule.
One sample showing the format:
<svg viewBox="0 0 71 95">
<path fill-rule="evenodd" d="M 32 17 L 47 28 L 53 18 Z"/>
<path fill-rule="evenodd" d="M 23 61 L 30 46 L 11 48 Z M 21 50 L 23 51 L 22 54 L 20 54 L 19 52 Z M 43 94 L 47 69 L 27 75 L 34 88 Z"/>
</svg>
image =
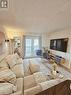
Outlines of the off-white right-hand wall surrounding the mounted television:
<svg viewBox="0 0 71 95">
<path fill-rule="evenodd" d="M 56 50 L 51 50 L 51 51 L 52 51 L 52 53 L 59 55 L 59 56 L 62 56 L 66 59 L 70 58 L 70 55 L 71 55 L 71 29 L 56 31 L 56 32 L 49 32 L 47 37 L 48 37 L 47 42 L 48 42 L 49 48 L 50 48 L 50 40 L 51 39 L 69 38 L 67 53 L 56 51 Z"/>
</svg>

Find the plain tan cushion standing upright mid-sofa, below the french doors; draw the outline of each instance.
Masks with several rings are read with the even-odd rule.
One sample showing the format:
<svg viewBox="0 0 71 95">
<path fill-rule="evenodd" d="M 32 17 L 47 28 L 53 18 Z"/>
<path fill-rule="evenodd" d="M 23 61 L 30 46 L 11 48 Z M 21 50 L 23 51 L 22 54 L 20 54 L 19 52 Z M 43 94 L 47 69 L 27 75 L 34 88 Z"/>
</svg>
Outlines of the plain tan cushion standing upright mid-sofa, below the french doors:
<svg viewBox="0 0 71 95">
<path fill-rule="evenodd" d="M 29 68 L 32 74 L 40 70 L 40 66 L 32 60 L 29 61 Z"/>
</svg>

